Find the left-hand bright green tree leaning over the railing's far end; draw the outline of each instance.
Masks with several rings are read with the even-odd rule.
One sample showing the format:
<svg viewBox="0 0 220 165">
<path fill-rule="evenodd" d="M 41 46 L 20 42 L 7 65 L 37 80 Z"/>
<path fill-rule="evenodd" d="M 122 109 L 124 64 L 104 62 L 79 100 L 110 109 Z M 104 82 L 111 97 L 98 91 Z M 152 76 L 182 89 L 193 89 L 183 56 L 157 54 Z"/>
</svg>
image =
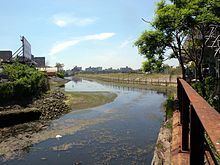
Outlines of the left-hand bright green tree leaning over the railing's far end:
<svg viewBox="0 0 220 165">
<path fill-rule="evenodd" d="M 185 79 L 185 67 L 181 51 L 181 45 L 186 37 L 183 20 L 183 14 L 176 5 L 161 1 L 157 5 L 156 17 L 151 22 L 154 30 L 145 31 L 135 42 L 135 45 L 138 47 L 139 53 L 145 55 L 147 60 L 158 55 L 163 60 L 165 50 L 172 49 L 173 53 L 170 58 L 179 60 Z"/>
</svg>

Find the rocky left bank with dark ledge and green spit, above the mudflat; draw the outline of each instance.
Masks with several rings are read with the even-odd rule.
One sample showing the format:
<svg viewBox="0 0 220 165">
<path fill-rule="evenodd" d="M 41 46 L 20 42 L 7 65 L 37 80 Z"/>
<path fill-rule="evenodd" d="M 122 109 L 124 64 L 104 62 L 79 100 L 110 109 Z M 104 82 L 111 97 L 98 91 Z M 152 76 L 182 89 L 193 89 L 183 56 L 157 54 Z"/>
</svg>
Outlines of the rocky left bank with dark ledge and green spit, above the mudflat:
<svg viewBox="0 0 220 165">
<path fill-rule="evenodd" d="M 87 109 L 112 102 L 117 95 L 111 92 L 65 92 L 68 79 L 50 78 L 50 91 L 28 104 L 0 107 L 0 127 L 8 127 L 34 120 L 49 121 L 72 111 Z M 28 114 L 32 114 L 28 118 Z M 33 116 L 34 115 L 34 116 Z M 19 120 L 14 120 L 18 117 Z M 7 119 L 6 119 L 7 118 Z M 4 120 L 3 120 L 4 119 Z"/>
</svg>

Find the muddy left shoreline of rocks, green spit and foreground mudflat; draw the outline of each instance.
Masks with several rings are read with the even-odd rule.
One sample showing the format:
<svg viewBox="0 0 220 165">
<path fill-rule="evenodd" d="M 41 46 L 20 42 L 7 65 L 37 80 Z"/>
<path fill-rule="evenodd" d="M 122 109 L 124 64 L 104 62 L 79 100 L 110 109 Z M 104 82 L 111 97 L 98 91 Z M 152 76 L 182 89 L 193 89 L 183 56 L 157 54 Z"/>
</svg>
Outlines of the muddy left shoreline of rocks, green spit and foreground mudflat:
<svg viewBox="0 0 220 165">
<path fill-rule="evenodd" d="M 65 92 L 62 87 L 69 80 L 50 79 L 51 90 L 26 106 L 11 105 L 0 108 L 0 113 L 23 112 L 26 109 L 37 109 L 41 112 L 38 120 L 28 121 L 24 123 L 16 123 L 10 127 L 0 128 L 0 162 L 14 158 L 19 158 L 26 154 L 29 148 L 40 141 L 48 138 L 55 138 L 60 132 L 47 133 L 47 129 L 51 122 L 60 118 L 62 115 L 71 111 L 91 108 L 112 102 L 116 98 L 116 94 L 110 92 Z M 70 97 L 71 96 L 71 97 Z M 102 98 L 102 99 L 100 99 Z M 91 104 L 94 101 L 96 104 Z M 101 100 L 101 101 L 100 101 Z M 82 126 L 90 125 L 94 121 L 79 121 Z M 81 127 L 80 127 L 81 128 Z M 69 128 L 65 131 L 74 132 L 78 127 Z M 22 133 L 21 133 L 22 132 Z M 39 136 L 40 134 L 44 136 Z"/>
</svg>

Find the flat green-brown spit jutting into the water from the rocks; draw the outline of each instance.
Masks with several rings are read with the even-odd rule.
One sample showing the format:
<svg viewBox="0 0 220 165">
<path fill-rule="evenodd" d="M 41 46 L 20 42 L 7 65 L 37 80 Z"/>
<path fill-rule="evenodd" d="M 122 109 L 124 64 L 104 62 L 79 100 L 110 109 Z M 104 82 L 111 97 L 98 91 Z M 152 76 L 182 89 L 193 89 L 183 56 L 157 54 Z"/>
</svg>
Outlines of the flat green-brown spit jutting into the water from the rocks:
<svg viewBox="0 0 220 165">
<path fill-rule="evenodd" d="M 117 95 L 110 92 L 64 92 L 66 104 L 73 110 L 87 109 L 112 102 Z"/>
</svg>

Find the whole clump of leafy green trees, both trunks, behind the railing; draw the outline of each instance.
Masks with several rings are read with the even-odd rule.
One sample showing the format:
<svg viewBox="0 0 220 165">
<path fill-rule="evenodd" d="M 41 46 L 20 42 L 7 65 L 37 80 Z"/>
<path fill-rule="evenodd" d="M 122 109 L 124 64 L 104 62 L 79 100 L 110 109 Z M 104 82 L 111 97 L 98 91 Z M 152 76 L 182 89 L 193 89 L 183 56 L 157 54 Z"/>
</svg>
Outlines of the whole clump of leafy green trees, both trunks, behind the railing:
<svg viewBox="0 0 220 165">
<path fill-rule="evenodd" d="M 166 49 L 171 49 L 169 58 L 176 58 L 186 79 L 187 62 L 193 61 L 199 80 L 203 83 L 202 63 L 205 54 L 205 36 L 209 25 L 219 23 L 220 3 L 217 0 L 162 0 L 157 4 L 155 19 L 150 22 L 154 30 L 145 31 L 135 42 L 139 53 L 147 61 L 164 58 Z M 203 94 L 205 87 L 203 83 Z"/>
</svg>

